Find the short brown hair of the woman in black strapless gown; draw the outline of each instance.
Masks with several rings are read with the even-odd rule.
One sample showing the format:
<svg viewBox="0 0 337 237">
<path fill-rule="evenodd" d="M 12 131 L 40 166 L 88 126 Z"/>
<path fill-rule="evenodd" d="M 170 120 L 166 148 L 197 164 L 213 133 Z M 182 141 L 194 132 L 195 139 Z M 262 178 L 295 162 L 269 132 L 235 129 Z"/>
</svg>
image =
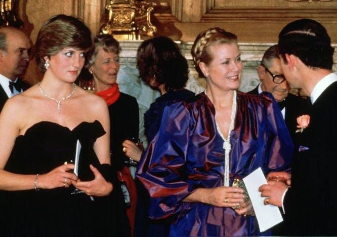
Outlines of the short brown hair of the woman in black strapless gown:
<svg viewBox="0 0 337 237">
<path fill-rule="evenodd" d="M 92 44 L 91 31 L 82 21 L 63 14 L 53 16 L 41 27 L 37 35 L 37 66 L 44 72 L 45 56 L 53 56 L 67 47 L 88 51 Z"/>
</svg>

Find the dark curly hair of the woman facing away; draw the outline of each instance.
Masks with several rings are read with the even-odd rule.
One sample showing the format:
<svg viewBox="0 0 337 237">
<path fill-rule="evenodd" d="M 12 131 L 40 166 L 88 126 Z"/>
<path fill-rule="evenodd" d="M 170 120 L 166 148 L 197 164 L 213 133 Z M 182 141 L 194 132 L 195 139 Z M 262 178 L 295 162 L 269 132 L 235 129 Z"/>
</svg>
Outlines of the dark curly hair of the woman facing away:
<svg viewBox="0 0 337 237">
<path fill-rule="evenodd" d="M 165 91 L 185 87 L 188 80 L 188 64 L 178 45 L 168 37 L 155 37 L 144 41 L 137 50 L 137 68 L 146 84 L 155 78 L 157 85 L 165 85 Z"/>
</svg>

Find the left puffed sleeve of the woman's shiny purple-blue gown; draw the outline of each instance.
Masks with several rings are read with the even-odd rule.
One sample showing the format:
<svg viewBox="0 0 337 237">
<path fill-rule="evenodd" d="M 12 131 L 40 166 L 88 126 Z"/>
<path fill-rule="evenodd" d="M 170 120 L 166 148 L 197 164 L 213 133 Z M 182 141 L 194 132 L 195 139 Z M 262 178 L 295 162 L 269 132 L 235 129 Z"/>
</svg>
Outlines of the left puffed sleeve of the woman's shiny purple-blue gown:
<svg viewBox="0 0 337 237">
<path fill-rule="evenodd" d="M 179 213 L 182 200 L 193 187 L 185 179 L 186 152 L 190 135 L 190 114 L 176 103 L 164 109 L 159 132 L 143 153 L 137 177 L 151 196 L 149 217 L 165 218 Z"/>
</svg>

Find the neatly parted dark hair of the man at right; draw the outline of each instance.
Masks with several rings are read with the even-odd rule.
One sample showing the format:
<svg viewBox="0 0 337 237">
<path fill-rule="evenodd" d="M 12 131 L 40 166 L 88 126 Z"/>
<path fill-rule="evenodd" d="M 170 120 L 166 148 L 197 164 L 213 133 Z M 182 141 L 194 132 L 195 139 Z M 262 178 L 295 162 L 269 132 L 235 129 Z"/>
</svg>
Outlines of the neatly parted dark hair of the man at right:
<svg viewBox="0 0 337 237">
<path fill-rule="evenodd" d="M 326 29 L 319 22 L 311 19 L 290 22 L 278 38 L 279 53 L 284 62 L 285 54 L 293 54 L 308 67 L 331 70 L 334 49 Z"/>
</svg>

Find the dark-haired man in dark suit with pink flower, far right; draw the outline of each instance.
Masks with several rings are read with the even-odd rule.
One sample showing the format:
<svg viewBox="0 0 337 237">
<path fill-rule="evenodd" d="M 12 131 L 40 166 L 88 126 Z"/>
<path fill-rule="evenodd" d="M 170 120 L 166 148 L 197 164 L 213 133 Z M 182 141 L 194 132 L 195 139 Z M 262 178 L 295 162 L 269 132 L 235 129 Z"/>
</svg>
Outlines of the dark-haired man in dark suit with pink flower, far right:
<svg viewBox="0 0 337 237">
<path fill-rule="evenodd" d="M 337 235 L 337 75 L 326 29 L 317 21 L 289 23 L 279 34 L 281 66 L 288 83 L 310 96 L 310 122 L 292 161 L 291 187 L 269 181 L 265 204 L 283 206 L 287 235 Z M 308 122 L 308 121 L 307 121 Z M 306 126 L 307 125 L 307 126 Z"/>
</svg>

